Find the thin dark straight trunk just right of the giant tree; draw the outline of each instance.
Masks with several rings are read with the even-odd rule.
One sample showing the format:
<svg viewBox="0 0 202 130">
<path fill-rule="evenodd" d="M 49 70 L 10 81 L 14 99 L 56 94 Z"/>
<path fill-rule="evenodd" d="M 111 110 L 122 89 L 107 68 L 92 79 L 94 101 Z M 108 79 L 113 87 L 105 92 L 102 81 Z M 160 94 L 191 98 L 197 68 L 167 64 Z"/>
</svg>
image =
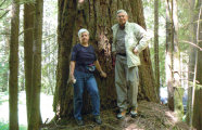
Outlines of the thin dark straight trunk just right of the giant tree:
<svg viewBox="0 0 202 130">
<path fill-rule="evenodd" d="M 156 92 L 160 93 L 159 0 L 154 0 L 154 63 L 155 63 L 155 81 L 156 81 L 155 86 L 156 86 Z"/>
</svg>

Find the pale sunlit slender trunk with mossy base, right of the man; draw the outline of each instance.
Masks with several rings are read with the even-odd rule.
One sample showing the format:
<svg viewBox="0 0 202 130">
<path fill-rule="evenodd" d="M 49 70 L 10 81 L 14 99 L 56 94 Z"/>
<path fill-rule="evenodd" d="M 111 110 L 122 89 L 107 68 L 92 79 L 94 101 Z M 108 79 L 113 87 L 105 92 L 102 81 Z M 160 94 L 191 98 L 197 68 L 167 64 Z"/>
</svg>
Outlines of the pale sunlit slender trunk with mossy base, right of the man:
<svg viewBox="0 0 202 130">
<path fill-rule="evenodd" d="M 174 47 L 173 47 L 173 78 L 174 78 L 174 110 L 178 114 L 178 117 L 182 119 L 184 116 L 184 88 L 181 87 L 181 70 L 180 70 L 180 51 L 178 43 L 178 12 L 177 0 L 173 0 L 173 34 L 174 34 Z"/>
</svg>

